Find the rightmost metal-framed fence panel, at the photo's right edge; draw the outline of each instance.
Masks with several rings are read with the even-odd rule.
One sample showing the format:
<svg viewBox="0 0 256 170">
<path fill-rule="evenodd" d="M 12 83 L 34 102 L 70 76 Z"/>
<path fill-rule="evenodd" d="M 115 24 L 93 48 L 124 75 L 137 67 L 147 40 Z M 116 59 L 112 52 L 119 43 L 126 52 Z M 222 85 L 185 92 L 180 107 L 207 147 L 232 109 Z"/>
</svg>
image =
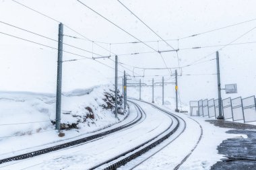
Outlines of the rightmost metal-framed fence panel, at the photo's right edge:
<svg viewBox="0 0 256 170">
<path fill-rule="evenodd" d="M 256 121 L 255 96 L 243 99 L 243 108 L 245 114 L 245 122 Z"/>
</svg>

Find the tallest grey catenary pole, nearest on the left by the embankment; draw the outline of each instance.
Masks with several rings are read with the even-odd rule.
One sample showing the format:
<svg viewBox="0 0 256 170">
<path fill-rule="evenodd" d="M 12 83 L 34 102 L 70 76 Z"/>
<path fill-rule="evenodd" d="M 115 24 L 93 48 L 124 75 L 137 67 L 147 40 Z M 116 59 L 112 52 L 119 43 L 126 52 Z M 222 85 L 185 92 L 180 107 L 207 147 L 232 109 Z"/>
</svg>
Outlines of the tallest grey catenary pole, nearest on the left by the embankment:
<svg viewBox="0 0 256 170">
<path fill-rule="evenodd" d="M 61 130 L 61 83 L 63 55 L 63 24 L 59 24 L 58 63 L 57 63 L 57 93 L 56 93 L 56 130 Z"/>
</svg>

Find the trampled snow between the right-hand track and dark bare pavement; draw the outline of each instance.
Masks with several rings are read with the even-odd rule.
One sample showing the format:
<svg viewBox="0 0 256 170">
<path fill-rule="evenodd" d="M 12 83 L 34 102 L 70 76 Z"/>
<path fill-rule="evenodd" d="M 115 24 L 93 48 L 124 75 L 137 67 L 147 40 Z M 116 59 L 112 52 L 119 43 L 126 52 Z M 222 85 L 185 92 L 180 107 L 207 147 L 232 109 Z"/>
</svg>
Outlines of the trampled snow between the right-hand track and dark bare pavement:
<svg viewBox="0 0 256 170">
<path fill-rule="evenodd" d="M 168 110 L 166 107 L 163 108 Z M 174 110 L 171 111 L 174 113 Z M 181 118 L 183 118 L 186 122 L 186 129 L 183 134 L 168 144 L 168 146 L 163 148 L 162 151 L 156 153 L 156 155 L 150 157 L 150 159 L 146 160 L 135 169 L 174 169 L 189 153 L 191 153 L 191 150 L 197 144 L 201 134 L 199 124 L 203 128 L 202 138 L 193 153 L 190 155 L 187 161 L 185 161 L 185 163 L 179 167 L 179 169 L 210 169 L 214 163 L 223 158 L 222 155 L 218 155 L 217 151 L 217 146 L 222 142 L 222 140 L 226 140 L 227 138 L 247 137 L 244 134 L 226 134 L 226 131 L 229 129 L 218 128 L 209 122 L 205 122 L 205 118 L 193 117 L 192 120 L 185 114 L 177 115 L 181 116 Z M 197 124 L 197 122 L 194 120 L 196 120 L 199 124 Z M 171 139 L 169 138 L 164 143 L 168 143 L 170 141 Z M 161 148 L 161 146 L 158 146 L 156 151 L 159 148 Z M 143 161 L 143 159 L 149 157 L 150 154 L 154 154 L 154 151 L 152 151 L 152 153 L 142 155 L 140 158 L 138 158 L 138 160 Z M 127 163 L 127 165 L 121 167 L 120 169 L 129 169 L 134 166 L 133 164 L 136 164 L 136 159 L 130 163 Z"/>
</svg>

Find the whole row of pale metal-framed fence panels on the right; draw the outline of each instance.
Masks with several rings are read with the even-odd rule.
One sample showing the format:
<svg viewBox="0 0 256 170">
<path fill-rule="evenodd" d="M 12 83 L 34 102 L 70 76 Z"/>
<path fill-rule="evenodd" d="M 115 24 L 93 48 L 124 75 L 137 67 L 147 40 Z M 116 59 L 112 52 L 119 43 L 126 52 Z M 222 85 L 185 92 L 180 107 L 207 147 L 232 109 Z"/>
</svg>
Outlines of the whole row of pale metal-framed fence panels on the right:
<svg viewBox="0 0 256 170">
<path fill-rule="evenodd" d="M 222 99 L 222 114 L 224 120 L 256 122 L 255 95 L 244 99 L 242 97 Z M 217 118 L 219 116 L 218 99 L 190 101 L 190 116 Z"/>
</svg>

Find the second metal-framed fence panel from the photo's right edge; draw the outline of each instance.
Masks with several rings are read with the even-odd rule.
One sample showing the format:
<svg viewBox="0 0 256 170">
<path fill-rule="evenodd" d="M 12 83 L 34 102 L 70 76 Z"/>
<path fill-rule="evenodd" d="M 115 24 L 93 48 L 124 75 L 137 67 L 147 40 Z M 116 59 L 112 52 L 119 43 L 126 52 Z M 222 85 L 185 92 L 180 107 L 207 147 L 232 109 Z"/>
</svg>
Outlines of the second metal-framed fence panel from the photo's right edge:
<svg viewBox="0 0 256 170">
<path fill-rule="evenodd" d="M 233 120 L 243 120 L 243 104 L 242 104 L 242 98 L 237 97 L 235 99 L 231 100 L 232 103 L 232 112 L 233 112 Z"/>
</svg>

